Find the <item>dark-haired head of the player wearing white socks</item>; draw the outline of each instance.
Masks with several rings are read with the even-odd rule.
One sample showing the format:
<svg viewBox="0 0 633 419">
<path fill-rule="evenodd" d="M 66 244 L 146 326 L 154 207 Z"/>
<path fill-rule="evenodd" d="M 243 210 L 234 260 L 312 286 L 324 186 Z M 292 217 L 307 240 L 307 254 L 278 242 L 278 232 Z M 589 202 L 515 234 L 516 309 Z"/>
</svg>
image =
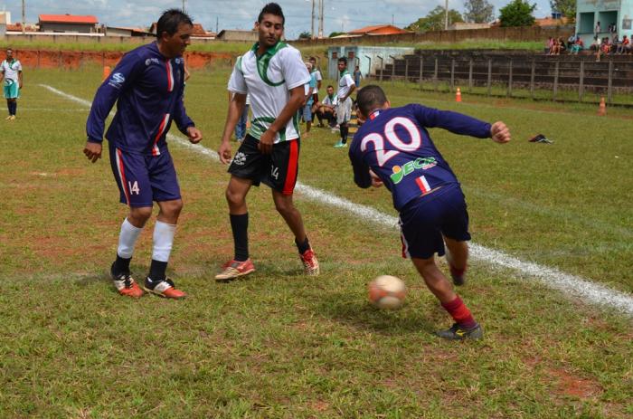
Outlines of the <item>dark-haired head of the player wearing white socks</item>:
<svg viewBox="0 0 633 419">
<path fill-rule="evenodd" d="M 194 23 L 191 17 L 178 9 L 165 11 L 156 24 L 156 39 L 161 44 L 161 52 L 164 52 L 167 58 L 182 55 L 191 43 L 193 32 Z"/>
</svg>

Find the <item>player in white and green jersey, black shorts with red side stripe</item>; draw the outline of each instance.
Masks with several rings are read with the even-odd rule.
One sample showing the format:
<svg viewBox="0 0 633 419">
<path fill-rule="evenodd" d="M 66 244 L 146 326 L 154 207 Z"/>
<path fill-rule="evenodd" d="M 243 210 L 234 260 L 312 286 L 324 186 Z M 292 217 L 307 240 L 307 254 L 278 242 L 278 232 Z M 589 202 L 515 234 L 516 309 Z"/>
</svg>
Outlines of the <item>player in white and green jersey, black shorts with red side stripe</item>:
<svg viewBox="0 0 633 419">
<path fill-rule="evenodd" d="M 304 85 L 310 81 L 310 75 L 300 52 L 280 41 L 284 23 L 278 4 L 269 3 L 261 9 L 255 24 L 259 42 L 237 60 L 229 81 L 229 90 L 234 95 L 218 155 L 222 163 L 231 163 L 226 199 L 235 252 L 233 259 L 224 264 L 222 272 L 215 276 L 216 281 L 231 281 L 255 271 L 249 255 L 246 195 L 250 186 L 259 186 L 260 183 L 272 189 L 279 214 L 295 234 L 306 273 L 319 273 L 301 214 L 292 203 L 299 156 L 297 111 L 303 104 Z M 252 112 L 250 133 L 232 157 L 231 132 L 244 109 L 247 93 Z"/>
</svg>

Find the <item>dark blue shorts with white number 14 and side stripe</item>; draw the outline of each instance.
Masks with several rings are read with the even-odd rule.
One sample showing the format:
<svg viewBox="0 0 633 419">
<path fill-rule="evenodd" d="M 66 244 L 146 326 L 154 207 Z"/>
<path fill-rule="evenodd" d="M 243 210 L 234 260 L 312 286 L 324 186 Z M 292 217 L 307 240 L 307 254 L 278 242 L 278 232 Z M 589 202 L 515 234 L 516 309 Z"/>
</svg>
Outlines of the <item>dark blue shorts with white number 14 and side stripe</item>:
<svg viewBox="0 0 633 419">
<path fill-rule="evenodd" d="M 109 153 L 122 204 L 152 206 L 154 201 L 180 199 L 174 162 L 167 149 L 158 156 L 147 156 L 123 151 L 110 143 Z"/>
</svg>

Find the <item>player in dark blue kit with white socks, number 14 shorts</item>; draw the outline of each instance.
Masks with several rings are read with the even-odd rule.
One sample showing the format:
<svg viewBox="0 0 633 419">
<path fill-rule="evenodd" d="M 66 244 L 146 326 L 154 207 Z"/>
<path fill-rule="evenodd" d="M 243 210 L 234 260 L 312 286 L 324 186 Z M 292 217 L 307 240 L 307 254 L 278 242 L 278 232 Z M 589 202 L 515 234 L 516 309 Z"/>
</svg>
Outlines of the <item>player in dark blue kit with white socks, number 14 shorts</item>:
<svg viewBox="0 0 633 419">
<path fill-rule="evenodd" d="M 128 52 L 118 62 L 97 90 L 90 109 L 86 124 L 88 141 L 83 153 L 94 163 L 101 157 L 105 120 L 114 103 L 118 103 L 106 138 L 120 201 L 129 207 L 118 236 L 117 259 L 110 268 L 121 295 L 139 298 L 144 294 L 130 274 L 129 263 L 156 201 L 160 211 L 144 288 L 170 299 L 186 296 L 165 276 L 175 226 L 183 208 L 165 137 L 173 120 L 192 143 L 202 139 L 183 103 L 183 52 L 191 43 L 193 27 L 187 14 L 176 9 L 166 11 L 158 20 L 156 42 Z"/>
</svg>

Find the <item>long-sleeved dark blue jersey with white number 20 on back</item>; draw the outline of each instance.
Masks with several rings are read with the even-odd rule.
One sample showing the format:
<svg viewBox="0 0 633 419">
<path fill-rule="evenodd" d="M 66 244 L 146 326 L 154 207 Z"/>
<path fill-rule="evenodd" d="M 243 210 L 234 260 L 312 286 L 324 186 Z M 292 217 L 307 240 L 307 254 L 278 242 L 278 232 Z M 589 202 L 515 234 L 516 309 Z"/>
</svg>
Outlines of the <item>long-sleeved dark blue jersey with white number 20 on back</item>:
<svg viewBox="0 0 633 419">
<path fill-rule="evenodd" d="M 439 186 L 458 184 L 427 128 L 490 137 L 490 124 L 457 112 L 417 104 L 374 110 L 354 135 L 349 149 L 356 185 L 372 185 L 371 168 L 391 191 L 393 206 L 400 211 L 412 199 Z"/>
</svg>

